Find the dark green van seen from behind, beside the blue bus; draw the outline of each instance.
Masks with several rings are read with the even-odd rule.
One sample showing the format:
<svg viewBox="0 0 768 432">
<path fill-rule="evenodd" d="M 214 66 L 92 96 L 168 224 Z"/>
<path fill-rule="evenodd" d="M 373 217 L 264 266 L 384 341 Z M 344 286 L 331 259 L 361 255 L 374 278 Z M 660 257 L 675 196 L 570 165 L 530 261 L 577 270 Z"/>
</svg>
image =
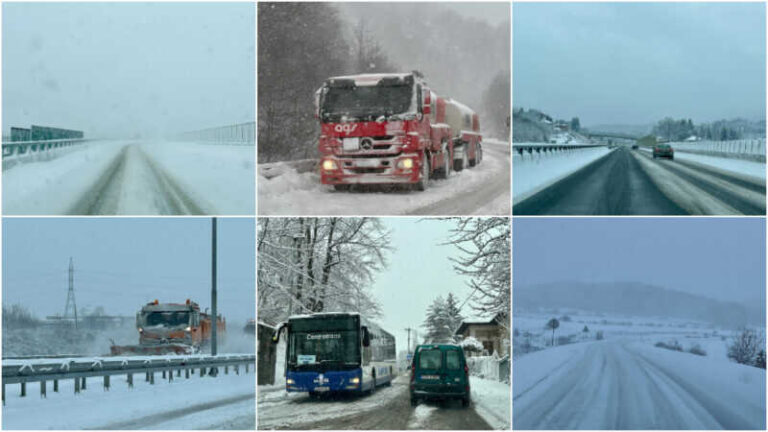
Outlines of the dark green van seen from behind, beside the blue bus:
<svg viewBox="0 0 768 432">
<path fill-rule="evenodd" d="M 419 399 L 461 399 L 469 406 L 469 367 L 458 345 L 419 345 L 411 365 L 411 405 Z"/>
</svg>

